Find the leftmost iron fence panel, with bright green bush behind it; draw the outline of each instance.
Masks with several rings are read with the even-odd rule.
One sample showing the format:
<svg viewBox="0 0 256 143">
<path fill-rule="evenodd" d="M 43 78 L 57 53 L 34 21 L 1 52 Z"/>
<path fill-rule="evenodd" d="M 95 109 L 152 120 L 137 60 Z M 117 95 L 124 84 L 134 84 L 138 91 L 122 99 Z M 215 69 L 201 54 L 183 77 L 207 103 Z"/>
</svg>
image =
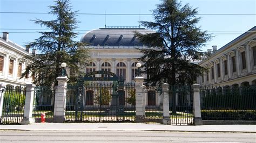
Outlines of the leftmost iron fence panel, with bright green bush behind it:
<svg viewBox="0 0 256 143">
<path fill-rule="evenodd" d="M 1 124 L 21 124 L 24 114 L 26 89 L 21 86 L 3 89 Z"/>
</svg>

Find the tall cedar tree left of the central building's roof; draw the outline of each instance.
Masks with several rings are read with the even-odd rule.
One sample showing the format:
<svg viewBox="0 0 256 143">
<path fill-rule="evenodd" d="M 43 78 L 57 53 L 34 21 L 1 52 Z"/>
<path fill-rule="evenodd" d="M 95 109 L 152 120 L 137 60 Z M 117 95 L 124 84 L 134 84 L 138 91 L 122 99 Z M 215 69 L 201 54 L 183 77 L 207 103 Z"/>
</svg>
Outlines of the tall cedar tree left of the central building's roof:
<svg viewBox="0 0 256 143">
<path fill-rule="evenodd" d="M 50 31 L 39 32 L 41 37 L 30 42 L 26 47 L 39 51 L 39 54 L 26 56 L 31 64 L 22 74 L 24 77 L 32 71 L 35 83 L 41 85 L 57 85 L 56 77 L 60 74 L 60 65 L 67 63 L 72 74 L 79 73 L 87 62 L 88 53 L 82 42 L 73 41 L 77 36 L 73 32 L 77 28 L 76 11 L 72 11 L 69 0 L 55 1 L 55 5 L 49 6 L 49 15 L 56 17 L 54 20 L 33 20 L 36 24 L 48 28 Z"/>
</svg>

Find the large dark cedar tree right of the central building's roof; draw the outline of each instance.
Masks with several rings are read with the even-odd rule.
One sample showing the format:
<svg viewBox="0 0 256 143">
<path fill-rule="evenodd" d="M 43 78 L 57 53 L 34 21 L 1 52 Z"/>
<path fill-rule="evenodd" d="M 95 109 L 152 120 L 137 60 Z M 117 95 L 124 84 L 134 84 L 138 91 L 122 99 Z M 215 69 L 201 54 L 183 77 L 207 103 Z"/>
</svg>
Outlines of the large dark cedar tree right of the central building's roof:
<svg viewBox="0 0 256 143">
<path fill-rule="evenodd" d="M 211 35 L 196 26 L 200 19 L 195 16 L 197 9 L 191 9 L 188 4 L 181 7 L 176 0 L 164 0 L 152 12 L 154 22 L 141 23 L 156 32 L 135 33 L 140 41 L 152 47 L 141 49 L 144 56 L 139 59 L 149 76 L 147 82 L 192 84 L 204 71 L 193 61 L 204 58 L 201 47 L 211 39 Z"/>
</svg>

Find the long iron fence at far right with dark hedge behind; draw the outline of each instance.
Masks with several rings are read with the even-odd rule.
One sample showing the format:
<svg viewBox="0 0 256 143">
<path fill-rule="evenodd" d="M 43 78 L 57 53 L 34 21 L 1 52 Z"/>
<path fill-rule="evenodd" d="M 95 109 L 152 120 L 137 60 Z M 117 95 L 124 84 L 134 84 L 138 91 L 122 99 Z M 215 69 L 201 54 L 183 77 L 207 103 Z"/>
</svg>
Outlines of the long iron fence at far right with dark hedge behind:
<svg viewBox="0 0 256 143">
<path fill-rule="evenodd" d="M 203 120 L 256 120 L 256 87 L 201 87 Z"/>
</svg>

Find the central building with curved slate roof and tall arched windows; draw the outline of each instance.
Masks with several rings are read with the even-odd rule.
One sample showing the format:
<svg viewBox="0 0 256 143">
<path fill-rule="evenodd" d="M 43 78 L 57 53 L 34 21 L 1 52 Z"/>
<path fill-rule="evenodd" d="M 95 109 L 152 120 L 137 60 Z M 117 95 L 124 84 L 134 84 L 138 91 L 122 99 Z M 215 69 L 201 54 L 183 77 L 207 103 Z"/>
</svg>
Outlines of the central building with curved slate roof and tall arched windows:
<svg viewBox="0 0 256 143">
<path fill-rule="evenodd" d="M 139 49 L 146 48 L 134 36 L 134 31 L 152 32 L 139 27 L 99 28 L 87 32 L 81 41 L 89 44 L 86 48 L 90 49 L 91 62 L 84 69 L 84 72 L 111 71 L 118 77 L 124 77 L 125 82 L 133 82 L 136 76 L 137 59 L 143 55 Z"/>
</svg>

